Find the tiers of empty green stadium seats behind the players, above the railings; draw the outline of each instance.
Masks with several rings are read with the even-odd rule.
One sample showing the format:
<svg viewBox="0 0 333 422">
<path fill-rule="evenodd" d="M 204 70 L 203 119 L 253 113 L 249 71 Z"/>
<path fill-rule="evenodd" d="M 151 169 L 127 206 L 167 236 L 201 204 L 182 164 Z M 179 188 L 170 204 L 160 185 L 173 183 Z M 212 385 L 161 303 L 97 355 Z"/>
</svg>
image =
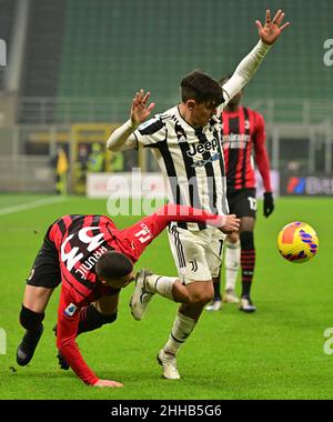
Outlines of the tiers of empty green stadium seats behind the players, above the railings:
<svg viewBox="0 0 333 422">
<path fill-rule="evenodd" d="M 252 0 L 251 9 L 246 0 L 202 4 L 32 0 L 22 96 L 53 99 L 54 121 L 91 121 L 91 115 L 94 121 L 121 121 L 141 87 L 151 90 L 158 110 L 165 109 L 178 100 L 182 76 L 195 68 L 216 78 L 230 73 L 258 39 L 254 21 L 264 18 L 259 16 L 261 0 Z M 304 99 L 331 99 L 332 70 L 322 58 L 323 42 L 331 36 L 327 7 L 333 6 L 273 0 L 270 7 L 285 9 L 292 27 L 246 88 L 248 101 L 260 100 L 264 109 L 271 99 L 278 108 L 285 98 L 296 107 Z M 294 120 L 291 115 L 286 109 L 281 119 Z"/>
</svg>

